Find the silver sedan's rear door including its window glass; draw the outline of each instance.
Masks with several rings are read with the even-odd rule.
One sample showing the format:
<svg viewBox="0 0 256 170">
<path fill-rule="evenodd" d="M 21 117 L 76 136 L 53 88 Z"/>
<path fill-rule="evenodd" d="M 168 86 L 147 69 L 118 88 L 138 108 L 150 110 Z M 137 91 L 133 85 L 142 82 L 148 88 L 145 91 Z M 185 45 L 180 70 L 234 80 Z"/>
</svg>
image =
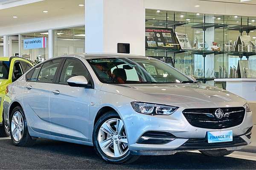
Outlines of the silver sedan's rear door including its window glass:
<svg viewBox="0 0 256 170">
<path fill-rule="evenodd" d="M 52 59 L 26 74 L 23 105 L 25 113 L 29 114 L 30 126 L 36 132 L 50 134 L 49 95 L 60 63 L 61 59 Z"/>
</svg>

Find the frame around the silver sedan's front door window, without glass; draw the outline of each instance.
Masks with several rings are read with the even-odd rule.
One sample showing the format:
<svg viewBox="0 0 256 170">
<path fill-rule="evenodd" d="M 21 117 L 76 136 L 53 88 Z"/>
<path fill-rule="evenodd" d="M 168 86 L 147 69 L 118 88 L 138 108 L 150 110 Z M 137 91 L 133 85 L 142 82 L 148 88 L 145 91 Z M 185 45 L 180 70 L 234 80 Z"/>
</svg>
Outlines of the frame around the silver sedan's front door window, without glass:
<svg viewBox="0 0 256 170">
<path fill-rule="evenodd" d="M 57 77 L 56 77 L 56 79 L 55 79 L 55 80 L 56 80 L 56 81 L 55 81 L 55 84 L 67 85 L 67 84 L 60 83 L 60 82 L 59 82 L 59 81 L 60 81 L 60 78 L 61 78 L 61 72 L 62 72 L 62 70 L 63 70 L 63 68 L 64 68 L 64 64 L 65 64 L 65 62 L 66 62 L 67 59 L 74 59 L 74 60 L 76 60 L 76 61 L 78 61 L 78 62 L 81 62 L 81 64 L 84 65 L 84 62 L 82 62 L 81 59 L 78 59 L 78 58 L 76 58 L 76 57 L 64 57 L 63 60 L 62 60 L 62 62 L 61 62 L 61 65 L 59 66 L 60 68 L 58 69 Z M 90 88 L 94 89 L 93 78 L 91 77 L 90 72 L 89 72 L 89 70 L 87 69 L 86 65 L 84 65 L 84 68 L 87 70 L 88 75 L 89 75 L 90 81 L 88 81 L 88 82 L 91 82 L 91 87 L 90 87 Z"/>
</svg>

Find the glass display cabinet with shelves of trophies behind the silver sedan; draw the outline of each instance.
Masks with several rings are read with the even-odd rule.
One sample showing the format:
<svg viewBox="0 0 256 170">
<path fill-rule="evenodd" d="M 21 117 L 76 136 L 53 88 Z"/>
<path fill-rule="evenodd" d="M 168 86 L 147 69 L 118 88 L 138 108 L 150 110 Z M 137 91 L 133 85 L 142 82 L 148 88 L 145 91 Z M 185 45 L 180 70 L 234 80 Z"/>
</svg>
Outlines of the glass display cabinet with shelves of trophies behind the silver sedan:
<svg viewBox="0 0 256 170">
<path fill-rule="evenodd" d="M 146 9 L 145 27 L 172 29 L 175 37 L 172 48 L 146 45 L 146 56 L 161 59 L 204 83 L 239 78 L 239 60 L 256 60 L 256 17 Z M 151 43 L 146 34 L 147 42 Z"/>
</svg>

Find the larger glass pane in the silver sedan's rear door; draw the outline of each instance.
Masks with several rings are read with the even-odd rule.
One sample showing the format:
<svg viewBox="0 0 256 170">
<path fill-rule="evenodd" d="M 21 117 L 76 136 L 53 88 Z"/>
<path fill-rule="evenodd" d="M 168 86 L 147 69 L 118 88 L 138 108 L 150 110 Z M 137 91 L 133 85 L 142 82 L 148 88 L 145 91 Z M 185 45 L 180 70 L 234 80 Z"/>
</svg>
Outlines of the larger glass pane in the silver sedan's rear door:
<svg viewBox="0 0 256 170">
<path fill-rule="evenodd" d="M 39 73 L 38 82 L 53 82 L 54 76 L 56 74 L 60 62 L 61 59 L 54 59 L 45 62 Z"/>
</svg>

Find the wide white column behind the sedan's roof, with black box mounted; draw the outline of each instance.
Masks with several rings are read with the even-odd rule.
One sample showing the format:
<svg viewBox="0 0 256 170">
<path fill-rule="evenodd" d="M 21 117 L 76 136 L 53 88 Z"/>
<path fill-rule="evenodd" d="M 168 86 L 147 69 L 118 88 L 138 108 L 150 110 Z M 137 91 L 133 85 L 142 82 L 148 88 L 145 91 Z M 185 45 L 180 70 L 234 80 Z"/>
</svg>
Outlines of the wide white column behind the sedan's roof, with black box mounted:
<svg viewBox="0 0 256 170">
<path fill-rule="evenodd" d="M 85 51 L 116 53 L 130 43 L 130 53 L 145 55 L 143 0 L 85 0 Z"/>
</svg>

